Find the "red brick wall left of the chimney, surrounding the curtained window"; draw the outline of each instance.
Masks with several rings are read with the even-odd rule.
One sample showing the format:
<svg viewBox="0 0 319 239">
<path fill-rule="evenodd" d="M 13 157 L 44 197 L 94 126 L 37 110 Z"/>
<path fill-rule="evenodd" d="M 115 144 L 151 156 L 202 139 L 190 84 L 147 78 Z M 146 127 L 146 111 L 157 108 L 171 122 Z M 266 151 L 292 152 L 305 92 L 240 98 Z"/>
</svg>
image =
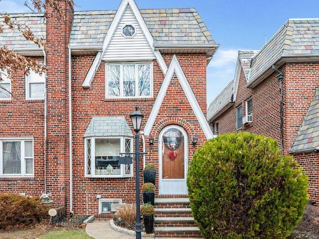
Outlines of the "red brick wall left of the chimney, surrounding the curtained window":
<svg viewBox="0 0 319 239">
<path fill-rule="evenodd" d="M 44 190 L 44 101 L 25 100 L 25 77 L 13 75 L 11 100 L 0 101 L 0 137 L 30 137 L 34 145 L 34 177 L 0 178 L 0 192 L 39 197 Z"/>
</svg>

